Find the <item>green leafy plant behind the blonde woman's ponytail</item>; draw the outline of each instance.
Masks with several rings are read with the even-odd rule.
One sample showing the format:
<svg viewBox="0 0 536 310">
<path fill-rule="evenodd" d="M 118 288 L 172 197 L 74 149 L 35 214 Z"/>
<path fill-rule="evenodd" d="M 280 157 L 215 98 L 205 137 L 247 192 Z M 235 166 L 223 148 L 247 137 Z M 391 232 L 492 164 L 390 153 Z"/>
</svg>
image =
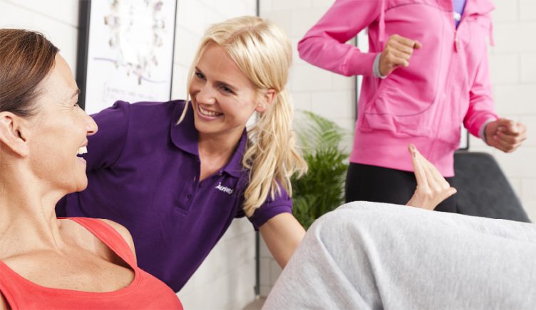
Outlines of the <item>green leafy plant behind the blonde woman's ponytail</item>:
<svg viewBox="0 0 536 310">
<path fill-rule="evenodd" d="M 348 133 L 335 122 L 302 111 L 297 135 L 309 171 L 292 178 L 292 213 L 304 228 L 344 203 L 348 152 L 341 141 Z"/>
</svg>

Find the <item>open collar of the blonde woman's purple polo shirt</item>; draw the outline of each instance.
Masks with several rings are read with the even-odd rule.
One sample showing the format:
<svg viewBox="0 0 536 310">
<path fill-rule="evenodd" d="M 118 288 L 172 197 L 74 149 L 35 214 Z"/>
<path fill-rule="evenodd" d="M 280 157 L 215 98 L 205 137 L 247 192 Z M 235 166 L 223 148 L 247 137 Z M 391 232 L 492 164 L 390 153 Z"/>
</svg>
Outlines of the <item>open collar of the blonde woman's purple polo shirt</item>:
<svg viewBox="0 0 536 310">
<path fill-rule="evenodd" d="M 192 105 L 188 105 L 185 119 L 183 119 L 180 124 L 176 124 L 177 120 L 182 114 L 182 109 L 184 106 L 184 104 L 178 103 L 173 110 L 173 117 L 171 119 L 172 124 L 170 129 L 171 141 L 179 149 L 182 149 L 182 151 L 195 155 L 197 158 L 199 158 L 199 135 L 195 129 Z M 242 137 L 240 137 L 240 140 L 238 141 L 237 149 L 234 150 L 230 161 L 227 162 L 227 164 L 225 164 L 220 171 L 225 171 L 231 176 L 238 178 L 243 170 L 242 157 L 244 156 L 246 146 L 247 131 L 244 129 L 244 132 L 242 132 Z"/>
</svg>

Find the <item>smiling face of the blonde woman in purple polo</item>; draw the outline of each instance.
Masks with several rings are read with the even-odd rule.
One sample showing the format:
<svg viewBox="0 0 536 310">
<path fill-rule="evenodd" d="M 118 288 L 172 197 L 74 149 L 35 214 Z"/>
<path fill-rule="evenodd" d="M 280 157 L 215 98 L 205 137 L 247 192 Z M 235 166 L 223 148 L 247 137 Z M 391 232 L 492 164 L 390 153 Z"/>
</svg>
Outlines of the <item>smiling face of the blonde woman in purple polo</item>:
<svg viewBox="0 0 536 310">
<path fill-rule="evenodd" d="M 238 141 L 253 112 L 265 109 L 254 84 L 215 43 L 197 62 L 189 92 L 200 137 L 224 135 Z"/>
</svg>

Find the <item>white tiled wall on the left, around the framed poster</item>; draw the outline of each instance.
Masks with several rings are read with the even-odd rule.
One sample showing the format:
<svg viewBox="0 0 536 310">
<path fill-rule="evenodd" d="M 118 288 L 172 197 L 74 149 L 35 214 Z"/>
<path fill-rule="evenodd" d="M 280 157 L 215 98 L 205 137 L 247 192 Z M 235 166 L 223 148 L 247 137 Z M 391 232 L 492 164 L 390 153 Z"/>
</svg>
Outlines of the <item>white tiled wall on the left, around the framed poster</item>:
<svg viewBox="0 0 536 310">
<path fill-rule="evenodd" d="M 187 69 L 205 28 L 255 12 L 255 0 L 178 1 L 173 98 L 185 97 Z M 0 27 L 43 32 L 76 72 L 78 0 L 0 0 Z M 241 309 L 254 299 L 254 258 L 252 225 L 235 220 L 179 293 L 182 304 L 186 309 Z"/>
</svg>

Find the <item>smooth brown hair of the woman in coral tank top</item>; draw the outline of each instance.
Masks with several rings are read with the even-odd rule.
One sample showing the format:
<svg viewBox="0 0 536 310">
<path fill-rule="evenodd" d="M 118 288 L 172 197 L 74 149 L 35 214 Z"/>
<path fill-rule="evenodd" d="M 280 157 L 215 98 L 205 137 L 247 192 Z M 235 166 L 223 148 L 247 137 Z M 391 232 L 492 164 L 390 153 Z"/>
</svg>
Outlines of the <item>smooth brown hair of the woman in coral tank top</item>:
<svg viewBox="0 0 536 310">
<path fill-rule="evenodd" d="M 41 33 L 0 29 L 0 112 L 35 114 L 38 85 L 53 68 L 56 53 Z"/>
</svg>

